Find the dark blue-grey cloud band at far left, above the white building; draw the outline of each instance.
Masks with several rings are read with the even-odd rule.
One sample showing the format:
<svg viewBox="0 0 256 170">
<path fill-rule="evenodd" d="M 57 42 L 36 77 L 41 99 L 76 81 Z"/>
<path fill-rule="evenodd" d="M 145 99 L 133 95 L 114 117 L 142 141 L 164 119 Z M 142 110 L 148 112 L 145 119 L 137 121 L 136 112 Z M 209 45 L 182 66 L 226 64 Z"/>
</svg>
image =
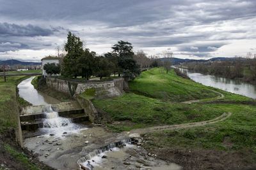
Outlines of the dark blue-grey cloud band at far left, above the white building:
<svg viewBox="0 0 256 170">
<path fill-rule="evenodd" d="M 43 29 L 31 24 L 17 25 L 9 23 L 0 23 L 1 36 L 49 36 L 53 32 L 51 29 Z"/>
</svg>

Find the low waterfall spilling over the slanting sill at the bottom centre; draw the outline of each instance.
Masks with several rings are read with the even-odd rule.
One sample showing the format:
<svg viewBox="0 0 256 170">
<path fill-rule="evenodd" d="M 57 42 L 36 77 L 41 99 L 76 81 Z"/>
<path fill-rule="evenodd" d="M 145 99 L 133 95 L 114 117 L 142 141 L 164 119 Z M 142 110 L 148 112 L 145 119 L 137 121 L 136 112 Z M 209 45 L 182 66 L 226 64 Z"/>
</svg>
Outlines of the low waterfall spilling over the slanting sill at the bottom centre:
<svg viewBox="0 0 256 170">
<path fill-rule="evenodd" d="M 93 150 L 93 152 L 86 154 L 84 157 L 81 157 L 81 159 L 77 160 L 77 164 L 79 165 L 80 168 L 81 168 L 81 165 L 83 165 L 88 169 L 92 169 L 92 165 L 90 164 L 89 160 L 91 160 L 93 157 L 99 155 L 100 153 L 109 151 L 113 148 L 125 146 L 125 144 L 131 144 L 131 143 L 132 143 L 132 139 L 126 138 L 126 139 L 123 139 L 122 141 L 118 141 L 118 142 L 103 146 L 101 148 Z M 84 150 L 82 152 L 84 152 Z"/>
</svg>

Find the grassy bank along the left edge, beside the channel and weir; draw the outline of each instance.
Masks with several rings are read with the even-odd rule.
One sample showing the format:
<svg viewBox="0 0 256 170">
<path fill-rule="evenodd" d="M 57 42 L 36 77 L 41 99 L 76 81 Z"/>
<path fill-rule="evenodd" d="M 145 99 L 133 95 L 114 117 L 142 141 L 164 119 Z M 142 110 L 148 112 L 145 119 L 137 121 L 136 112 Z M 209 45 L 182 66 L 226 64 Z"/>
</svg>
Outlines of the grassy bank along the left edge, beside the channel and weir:
<svg viewBox="0 0 256 170">
<path fill-rule="evenodd" d="M 28 76 L 8 76 L 0 80 L 0 169 L 52 169 L 28 150 L 20 148 L 19 111 L 30 105 L 19 97 L 17 85 Z M 22 144 L 21 144 L 22 145 Z"/>
</svg>

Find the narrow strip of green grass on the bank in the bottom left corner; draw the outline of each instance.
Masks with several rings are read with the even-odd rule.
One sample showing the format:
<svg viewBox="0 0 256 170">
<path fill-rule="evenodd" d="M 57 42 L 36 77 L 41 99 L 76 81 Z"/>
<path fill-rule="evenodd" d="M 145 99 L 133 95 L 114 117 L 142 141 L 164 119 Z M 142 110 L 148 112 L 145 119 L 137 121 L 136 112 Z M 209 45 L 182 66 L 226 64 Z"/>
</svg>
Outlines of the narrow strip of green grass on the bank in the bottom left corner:
<svg viewBox="0 0 256 170">
<path fill-rule="evenodd" d="M 26 167 L 26 169 L 40 170 L 40 167 L 30 162 L 24 153 L 17 152 L 17 150 L 15 150 L 12 146 L 4 143 L 4 150 L 13 158 L 17 159 L 22 164 L 22 166 Z"/>
</svg>

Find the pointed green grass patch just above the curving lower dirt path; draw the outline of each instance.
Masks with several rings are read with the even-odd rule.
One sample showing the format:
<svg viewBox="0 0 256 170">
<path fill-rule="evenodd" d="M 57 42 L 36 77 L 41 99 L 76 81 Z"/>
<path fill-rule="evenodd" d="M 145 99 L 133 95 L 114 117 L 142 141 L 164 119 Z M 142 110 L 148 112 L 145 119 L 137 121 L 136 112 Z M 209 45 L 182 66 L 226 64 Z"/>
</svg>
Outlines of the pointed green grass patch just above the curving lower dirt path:
<svg viewBox="0 0 256 170">
<path fill-rule="evenodd" d="M 93 104 L 96 108 L 109 113 L 113 121 L 129 120 L 135 124 L 129 126 L 127 122 L 120 125 L 120 127 L 123 126 L 123 131 L 154 125 L 200 122 L 218 117 L 223 113 L 219 108 L 210 105 L 168 103 L 132 93 L 113 99 L 94 100 Z M 113 125 L 108 126 L 115 129 Z"/>
</svg>

